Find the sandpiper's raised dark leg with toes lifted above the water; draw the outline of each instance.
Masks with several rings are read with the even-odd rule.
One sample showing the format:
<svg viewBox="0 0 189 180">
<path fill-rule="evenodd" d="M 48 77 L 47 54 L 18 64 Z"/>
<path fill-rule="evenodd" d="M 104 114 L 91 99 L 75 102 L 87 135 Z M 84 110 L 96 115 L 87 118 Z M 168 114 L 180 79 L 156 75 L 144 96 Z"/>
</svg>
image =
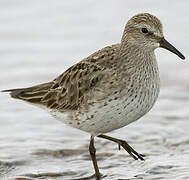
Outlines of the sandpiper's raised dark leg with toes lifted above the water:
<svg viewBox="0 0 189 180">
<path fill-rule="evenodd" d="M 123 147 L 135 160 L 143 160 L 143 157 L 141 154 L 137 153 L 126 141 L 124 140 L 121 140 L 121 139 L 116 139 L 116 138 L 113 138 L 113 137 L 110 137 L 110 136 L 106 136 L 106 135 L 99 135 L 97 136 L 99 138 L 103 138 L 103 139 L 107 139 L 107 140 L 110 140 L 110 141 L 113 141 L 113 142 L 116 142 L 118 143 L 118 147 L 120 149 L 120 146 Z"/>
</svg>

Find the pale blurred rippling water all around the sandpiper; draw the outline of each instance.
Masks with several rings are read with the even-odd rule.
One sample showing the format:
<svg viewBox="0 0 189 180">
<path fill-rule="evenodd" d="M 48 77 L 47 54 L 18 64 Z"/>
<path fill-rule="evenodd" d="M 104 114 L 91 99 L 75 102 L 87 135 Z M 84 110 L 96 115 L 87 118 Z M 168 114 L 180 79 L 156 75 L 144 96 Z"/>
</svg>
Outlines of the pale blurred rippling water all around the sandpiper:
<svg viewBox="0 0 189 180">
<path fill-rule="evenodd" d="M 110 133 L 146 161 L 96 139 L 99 167 L 110 179 L 189 179 L 189 1 L 1 0 L 0 89 L 53 80 L 82 58 L 118 43 L 129 18 L 149 12 L 186 57 L 156 50 L 158 102 L 145 117 Z M 93 174 L 89 135 L 45 111 L 0 94 L 0 179 L 70 180 Z"/>
</svg>

